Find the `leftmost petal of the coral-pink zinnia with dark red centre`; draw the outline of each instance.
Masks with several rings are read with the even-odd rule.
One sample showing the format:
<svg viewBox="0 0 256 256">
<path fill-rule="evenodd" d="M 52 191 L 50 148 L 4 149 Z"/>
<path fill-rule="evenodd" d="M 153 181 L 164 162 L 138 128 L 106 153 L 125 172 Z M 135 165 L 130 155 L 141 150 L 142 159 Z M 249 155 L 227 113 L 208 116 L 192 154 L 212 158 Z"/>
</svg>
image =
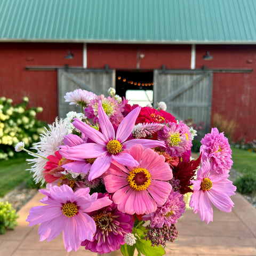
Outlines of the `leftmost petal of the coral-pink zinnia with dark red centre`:
<svg viewBox="0 0 256 256">
<path fill-rule="evenodd" d="M 122 173 L 125 174 L 124 172 Z M 128 185 L 127 175 L 125 174 L 123 175 L 123 177 L 119 177 L 117 175 L 112 175 L 112 174 L 107 175 L 104 178 L 104 183 L 108 193 L 114 193 L 116 190 Z"/>
</svg>

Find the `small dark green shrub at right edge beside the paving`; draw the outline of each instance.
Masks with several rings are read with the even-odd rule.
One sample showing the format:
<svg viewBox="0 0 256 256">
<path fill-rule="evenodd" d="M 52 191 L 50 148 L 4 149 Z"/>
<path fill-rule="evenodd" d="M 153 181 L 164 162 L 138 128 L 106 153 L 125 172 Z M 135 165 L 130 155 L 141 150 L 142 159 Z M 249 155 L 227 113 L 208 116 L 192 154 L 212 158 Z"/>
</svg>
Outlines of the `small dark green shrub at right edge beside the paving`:
<svg viewBox="0 0 256 256">
<path fill-rule="evenodd" d="M 256 192 L 256 177 L 251 173 L 247 173 L 243 177 L 238 178 L 234 185 L 239 193 L 252 194 Z"/>
</svg>

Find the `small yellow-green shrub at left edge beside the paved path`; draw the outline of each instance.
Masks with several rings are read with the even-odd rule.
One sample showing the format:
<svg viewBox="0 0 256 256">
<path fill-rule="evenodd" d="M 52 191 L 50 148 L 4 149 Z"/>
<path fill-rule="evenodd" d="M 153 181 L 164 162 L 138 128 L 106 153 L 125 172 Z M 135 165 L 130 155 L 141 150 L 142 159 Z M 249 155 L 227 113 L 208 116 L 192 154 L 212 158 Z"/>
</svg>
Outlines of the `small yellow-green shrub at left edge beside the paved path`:
<svg viewBox="0 0 256 256">
<path fill-rule="evenodd" d="M 4 234 L 6 229 L 14 229 L 17 226 L 19 215 L 7 201 L 0 202 L 0 234 Z"/>
</svg>

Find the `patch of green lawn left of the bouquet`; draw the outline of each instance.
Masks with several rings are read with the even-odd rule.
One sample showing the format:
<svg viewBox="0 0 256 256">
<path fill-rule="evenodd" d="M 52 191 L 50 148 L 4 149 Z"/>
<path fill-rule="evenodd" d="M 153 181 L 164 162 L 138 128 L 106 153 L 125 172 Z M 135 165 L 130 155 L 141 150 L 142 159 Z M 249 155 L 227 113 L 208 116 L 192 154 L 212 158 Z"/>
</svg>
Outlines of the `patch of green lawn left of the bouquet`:
<svg viewBox="0 0 256 256">
<path fill-rule="evenodd" d="M 0 197 L 31 178 L 31 173 L 26 171 L 30 166 L 26 158 L 17 157 L 0 161 Z"/>
</svg>

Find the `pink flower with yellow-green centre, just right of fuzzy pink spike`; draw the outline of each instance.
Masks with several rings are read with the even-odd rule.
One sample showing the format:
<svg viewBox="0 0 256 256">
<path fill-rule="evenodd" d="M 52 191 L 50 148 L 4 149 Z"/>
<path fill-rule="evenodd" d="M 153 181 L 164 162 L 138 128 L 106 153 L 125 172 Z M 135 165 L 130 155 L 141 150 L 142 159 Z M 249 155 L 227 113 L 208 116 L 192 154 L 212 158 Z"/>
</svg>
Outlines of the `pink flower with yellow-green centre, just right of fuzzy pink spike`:
<svg viewBox="0 0 256 256">
<path fill-rule="evenodd" d="M 189 127 L 180 121 L 178 124 L 169 122 L 158 132 L 158 140 L 165 142 L 165 152 L 170 156 L 182 156 L 187 150 L 190 150 L 191 133 Z"/>
</svg>

